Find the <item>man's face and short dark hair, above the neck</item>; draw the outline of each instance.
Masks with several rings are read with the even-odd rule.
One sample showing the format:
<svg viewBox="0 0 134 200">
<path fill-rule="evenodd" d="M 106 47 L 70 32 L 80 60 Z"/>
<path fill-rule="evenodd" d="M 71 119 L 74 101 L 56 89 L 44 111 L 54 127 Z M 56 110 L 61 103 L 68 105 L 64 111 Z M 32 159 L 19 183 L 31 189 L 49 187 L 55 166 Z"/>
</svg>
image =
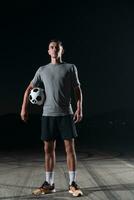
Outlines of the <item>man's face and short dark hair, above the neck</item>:
<svg viewBox="0 0 134 200">
<path fill-rule="evenodd" d="M 48 54 L 51 58 L 60 58 L 63 54 L 63 47 L 56 42 L 51 42 L 48 46 Z"/>
</svg>

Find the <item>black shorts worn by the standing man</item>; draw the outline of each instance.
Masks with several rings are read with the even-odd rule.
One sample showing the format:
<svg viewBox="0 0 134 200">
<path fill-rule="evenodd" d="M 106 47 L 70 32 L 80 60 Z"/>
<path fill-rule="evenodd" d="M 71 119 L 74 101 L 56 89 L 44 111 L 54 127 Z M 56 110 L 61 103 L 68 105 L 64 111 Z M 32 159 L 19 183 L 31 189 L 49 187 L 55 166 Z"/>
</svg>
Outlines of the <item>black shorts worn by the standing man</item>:
<svg viewBox="0 0 134 200">
<path fill-rule="evenodd" d="M 42 116 L 41 139 L 43 141 L 51 141 L 59 136 L 63 140 L 77 137 L 73 115 Z"/>
</svg>

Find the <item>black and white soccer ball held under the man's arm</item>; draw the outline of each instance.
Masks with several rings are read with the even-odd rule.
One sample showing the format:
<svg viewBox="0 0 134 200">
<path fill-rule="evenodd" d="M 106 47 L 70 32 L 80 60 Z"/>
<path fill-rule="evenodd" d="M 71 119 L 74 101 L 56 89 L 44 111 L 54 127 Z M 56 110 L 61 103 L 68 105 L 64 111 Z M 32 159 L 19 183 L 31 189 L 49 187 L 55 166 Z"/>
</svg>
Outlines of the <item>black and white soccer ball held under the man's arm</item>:
<svg viewBox="0 0 134 200">
<path fill-rule="evenodd" d="M 39 87 L 34 87 L 29 94 L 29 100 L 32 104 L 42 105 L 45 100 L 44 90 Z"/>
</svg>

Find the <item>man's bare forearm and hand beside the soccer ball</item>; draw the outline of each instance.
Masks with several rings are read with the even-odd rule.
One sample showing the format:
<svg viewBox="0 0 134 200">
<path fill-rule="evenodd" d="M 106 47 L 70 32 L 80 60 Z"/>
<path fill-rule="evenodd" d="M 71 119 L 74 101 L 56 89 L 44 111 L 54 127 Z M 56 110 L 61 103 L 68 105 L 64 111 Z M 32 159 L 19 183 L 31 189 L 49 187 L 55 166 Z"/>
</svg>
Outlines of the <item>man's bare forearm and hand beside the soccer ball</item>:
<svg viewBox="0 0 134 200">
<path fill-rule="evenodd" d="M 27 89 L 25 90 L 24 93 L 24 97 L 23 97 L 23 103 L 22 103 L 22 107 L 21 107 L 21 119 L 26 122 L 28 120 L 28 97 L 29 97 L 29 93 L 30 91 L 33 89 L 32 84 L 30 83 L 27 87 Z"/>
</svg>

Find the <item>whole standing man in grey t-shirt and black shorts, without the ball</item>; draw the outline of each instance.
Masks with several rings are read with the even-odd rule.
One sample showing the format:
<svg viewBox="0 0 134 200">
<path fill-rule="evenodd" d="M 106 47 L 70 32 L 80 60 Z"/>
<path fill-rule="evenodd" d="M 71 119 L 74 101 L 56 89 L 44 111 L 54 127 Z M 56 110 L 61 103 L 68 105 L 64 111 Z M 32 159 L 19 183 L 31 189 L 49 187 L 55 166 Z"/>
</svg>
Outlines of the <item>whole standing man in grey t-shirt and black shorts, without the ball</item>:
<svg viewBox="0 0 134 200">
<path fill-rule="evenodd" d="M 56 138 L 60 134 L 64 140 L 69 171 L 69 193 L 73 196 L 83 195 L 76 184 L 76 153 L 74 138 L 77 137 L 75 123 L 82 119 L 82 91 L 74 64 L 62 62 L 63 45 L 58 40 L 51 40 L 48 54 L 51 62 L 41 66 L 29 86 L 22 103 L 21 118 L 28 119 L 28 97 L 31 89 L 43 83 L 46 99 L 42 113 L 41 139 L 44 141 L 45 152 L 45 182 L 33 191 L 34 195 L 55 192 L 54 167 Z M 71 106 L 71 89 L 76 97 L 76 111 Z"/>
</svg>

